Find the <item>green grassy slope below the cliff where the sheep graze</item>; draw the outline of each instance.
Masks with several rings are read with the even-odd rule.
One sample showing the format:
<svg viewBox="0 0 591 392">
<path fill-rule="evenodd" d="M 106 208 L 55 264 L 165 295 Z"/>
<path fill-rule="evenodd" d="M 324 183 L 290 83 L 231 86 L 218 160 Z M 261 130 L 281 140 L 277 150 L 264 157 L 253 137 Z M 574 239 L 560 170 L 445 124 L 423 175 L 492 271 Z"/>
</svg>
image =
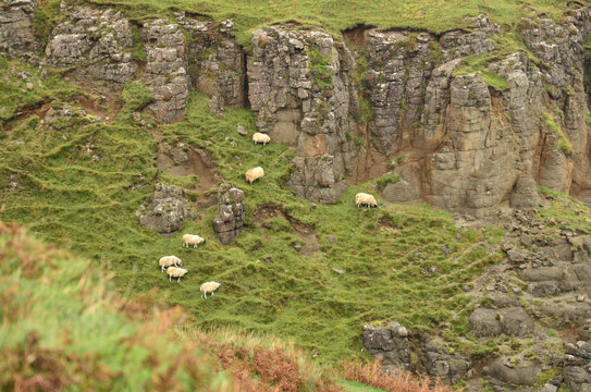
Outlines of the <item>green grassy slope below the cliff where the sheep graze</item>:
<svg viewBox="0 0 591 392">
<path fill-rule="evenodd" d="M 198 326 L 273 332 L 318 350 L 322 362 L 358 352 L 360 327 L 373 320 L 442 329 L 451 340 L 468 331 L 469 298 L 461 287 L 501 258 L 477 246 L 483 240 L 498 242 L 501 230 L 466 231 L 458 241 L 451 216 L 428 206 L 355 208 L 355 193 L 371 192 L 372 184 L 352 186 L 336 205 L 312 210 L 282 185 L 294 152 L 279 145 L 254 146 L 236 134 L 238 123 L 250 134 L 255 131 L 247 110 L 229 109 L 219 119 L 209 112 L 204 96 L 193 94 L 187 118 L 186 123 L 164 125 L 158 132 L 170 143 L 207 147 L 221 174 L 245 189 L 248 226 L 235 244 L 222 246 L 214 240 L 210 222 L 216 208 L 198 211 L 202 219 L 183 229 L 211 240 L 198 250 L 181 248 L 182 233 L 163 238 L 138 225 L 135 210 L 150 197 L 156 183 L 192 188 L 198 180 L 159 173 L 150 133 L 124 122 L 73 121 L 63 131 L 32 119 L 11 125 L 1 139 L 2 218 L 16 220 L 94 262 L 108 264 L 124 295 L 159 286 L 171 304 L 188 309 Z M 14 143 L 19 140 L 24 145 Z M 86 152 L 88 143 L 94 146 L 91 154 Z M 99 155 L 100 161 L 93 162 L 93 155 Z M 256 164 L 264 167 L 266 176 L 250 186 L 243 173 Z M 9 182 L 14 173 L 19 185 L 12 192 Z M 132 191 L 134 184 L 145 186 Z M 291 244 L 301 240 L 281 217 L 267 228 L 255 224 L 254 210 L 267 203 L 280 204 L 315 225 L 321 252 L 311 257 L 295 252 Z M 441 250 L 443 244 L 450 256 Z M 189 270 L 181 283 L 170 283 L 160 273 L 157 260 L 168 254 L 180 256 Z M 333 268 L 345 272 L 340 275 Z M 198 286 L 209 280 L 223 285 L 212 299 L 201 301 Z"/>
</svg>

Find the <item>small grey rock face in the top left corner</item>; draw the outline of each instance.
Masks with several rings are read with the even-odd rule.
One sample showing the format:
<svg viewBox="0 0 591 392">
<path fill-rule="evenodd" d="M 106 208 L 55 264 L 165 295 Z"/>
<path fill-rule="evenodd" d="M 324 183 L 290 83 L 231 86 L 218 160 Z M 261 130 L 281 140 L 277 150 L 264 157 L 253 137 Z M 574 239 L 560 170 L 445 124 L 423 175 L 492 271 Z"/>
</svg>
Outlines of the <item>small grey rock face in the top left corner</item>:
<svg viewBox="0 0 591 392">
<path fill-rule="evenodd" d="M 37 51 L 33 34 L 36 0 L 4 1 L 0 13 L 0 54 Z"/>
</svg>

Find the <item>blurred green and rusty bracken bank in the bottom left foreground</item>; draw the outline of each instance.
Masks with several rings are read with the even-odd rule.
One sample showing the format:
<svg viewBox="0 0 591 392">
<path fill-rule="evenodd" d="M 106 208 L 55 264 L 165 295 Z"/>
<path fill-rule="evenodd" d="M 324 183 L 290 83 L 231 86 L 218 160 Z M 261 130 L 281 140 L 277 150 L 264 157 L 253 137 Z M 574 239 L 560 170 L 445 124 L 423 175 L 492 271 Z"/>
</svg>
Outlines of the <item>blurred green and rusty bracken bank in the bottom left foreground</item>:
<svg viewBox="0 0 591 392">
<path fill-rule="evenodd" d="M 293 344 L 195 330 L 156 293 L 126 303 L 97 266 L 15 224 L 0 222 L 0 249 L 2 390 L 336 391 Z"/>
</svg>

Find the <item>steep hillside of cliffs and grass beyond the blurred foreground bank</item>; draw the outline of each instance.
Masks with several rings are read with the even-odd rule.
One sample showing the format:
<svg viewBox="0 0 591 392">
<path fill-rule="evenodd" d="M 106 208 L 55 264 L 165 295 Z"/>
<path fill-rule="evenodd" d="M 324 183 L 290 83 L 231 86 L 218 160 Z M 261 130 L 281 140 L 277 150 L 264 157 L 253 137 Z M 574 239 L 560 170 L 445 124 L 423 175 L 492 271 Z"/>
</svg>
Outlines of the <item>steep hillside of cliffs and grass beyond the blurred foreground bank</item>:
<svg viewBox="0 0 591 392">
<path fill-rule="evenodd" d="M 1 219 L 104 265 L 122 297 L 157 289 L 193 327 L 268 332 L 327 366 L 369 354 L 475 391 L 591 388 L 586 3 L 2 11 Z"/>
</svg>

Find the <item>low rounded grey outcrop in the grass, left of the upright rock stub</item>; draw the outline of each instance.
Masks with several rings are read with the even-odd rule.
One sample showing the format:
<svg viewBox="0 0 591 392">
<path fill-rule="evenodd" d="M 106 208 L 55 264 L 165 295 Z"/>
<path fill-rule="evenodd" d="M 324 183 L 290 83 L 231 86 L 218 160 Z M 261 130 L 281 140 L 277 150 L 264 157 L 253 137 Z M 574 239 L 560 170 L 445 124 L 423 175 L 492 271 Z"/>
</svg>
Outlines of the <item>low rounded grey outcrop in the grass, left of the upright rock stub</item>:
<svg viewBox="0 0 591 392">
<path fill-rule="evenodd" d="M 135 212 L 139 224 L 160 234 L 177 232 L 185 219 L 195 219 L 195 212 L 187 208 L 183 189 L 174 185 L 158 184 L 153 198 Z"/>
</svg>

